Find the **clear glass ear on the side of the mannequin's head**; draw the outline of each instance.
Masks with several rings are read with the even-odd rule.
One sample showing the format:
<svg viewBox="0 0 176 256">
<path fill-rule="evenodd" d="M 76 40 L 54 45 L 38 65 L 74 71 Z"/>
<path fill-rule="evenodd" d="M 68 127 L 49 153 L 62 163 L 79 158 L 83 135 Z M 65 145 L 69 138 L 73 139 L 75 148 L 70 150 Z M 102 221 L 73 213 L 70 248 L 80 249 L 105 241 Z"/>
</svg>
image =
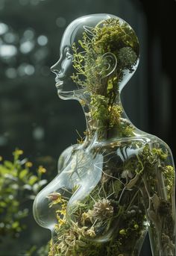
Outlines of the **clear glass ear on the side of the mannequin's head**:
<svg viewBox="0 0 176 256">
<path fill-rule="evenodd" d="M 106 78 L 107 76 L 112 74 L 116 69 L 116 55 L 114 55 L 112 52 L 107 52 L 102 55 L 102 62 L 104 63 L 104 69 L 101 70 L 100 75 L 102 75 L 101 78 Z"/>
</svg>

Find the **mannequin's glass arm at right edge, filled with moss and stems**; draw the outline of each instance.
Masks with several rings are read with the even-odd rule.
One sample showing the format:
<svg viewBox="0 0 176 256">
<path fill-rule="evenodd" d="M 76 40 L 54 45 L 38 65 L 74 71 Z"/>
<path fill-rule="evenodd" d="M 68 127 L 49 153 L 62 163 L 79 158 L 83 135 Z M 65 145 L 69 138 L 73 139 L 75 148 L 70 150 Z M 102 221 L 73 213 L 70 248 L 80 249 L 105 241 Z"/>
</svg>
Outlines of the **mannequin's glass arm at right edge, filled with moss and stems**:
<svg viewBox="0 0 176 256">
<path fill-rule="evenodd" d="M 143 159 L 142 196 L 153 255 L 175 255 L 175 167 L 166 143 L 150 143 Z M 144 157 L 145 158 L 145 157 Z"/>
</svg>

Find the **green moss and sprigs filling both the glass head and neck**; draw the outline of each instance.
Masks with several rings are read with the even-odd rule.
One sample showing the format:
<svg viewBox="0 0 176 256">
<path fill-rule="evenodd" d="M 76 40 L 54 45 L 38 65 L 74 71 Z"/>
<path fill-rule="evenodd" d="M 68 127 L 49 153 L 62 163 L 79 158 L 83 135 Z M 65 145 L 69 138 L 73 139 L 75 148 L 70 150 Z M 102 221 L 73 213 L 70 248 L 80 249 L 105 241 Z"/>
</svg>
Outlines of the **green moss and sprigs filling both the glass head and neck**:
<svg viewBox="0 0 176 256">
<path fill-rule="evenodd" d="M 139 58 L 139 43 L 132 28 L 114 18 L 103 20 L 94 28 L 84 26 L 78 46 L 74 43 L 72 50 L 76 70 L 72 80 L 91 94 L 92 119 L 100 129 L 109 131 L 118 125 L 119 134 L 133 136 L 131 126 L 120 125 L 119 104 L 119 84 L 125 70 L 133 72 Z"/>
</svg>

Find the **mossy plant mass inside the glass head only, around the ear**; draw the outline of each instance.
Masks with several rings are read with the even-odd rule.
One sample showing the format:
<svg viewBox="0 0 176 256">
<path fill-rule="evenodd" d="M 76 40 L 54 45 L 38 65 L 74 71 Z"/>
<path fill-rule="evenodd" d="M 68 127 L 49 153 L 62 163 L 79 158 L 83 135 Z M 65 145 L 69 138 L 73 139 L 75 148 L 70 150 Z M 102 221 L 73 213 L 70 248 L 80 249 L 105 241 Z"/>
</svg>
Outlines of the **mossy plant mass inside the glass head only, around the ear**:
<svg viewBox="0 0 176 256">
<path fill-rule="evenodd" d="M 139 42 L 133 29 L 118 17 L 103 19 L 94 27 L 84 25 L 84 32 L 73 43 L 73 81 L 92 93 L 107 89 L 102 78 L 113 76 L 116 89 L 122 89 L 139 62 Z M 104 54 L 110 54 L 104 57 Z M 107 55 L 106 55 L 107 56 Z M 116 59 L 116 60 L 114 60 Z M 111 71 L 112 69 L 112 71 Z M 110 72 L 109 72 L 110 70 Z M 101 87 L 101 88 L 100 88 Z"/>
</svg>

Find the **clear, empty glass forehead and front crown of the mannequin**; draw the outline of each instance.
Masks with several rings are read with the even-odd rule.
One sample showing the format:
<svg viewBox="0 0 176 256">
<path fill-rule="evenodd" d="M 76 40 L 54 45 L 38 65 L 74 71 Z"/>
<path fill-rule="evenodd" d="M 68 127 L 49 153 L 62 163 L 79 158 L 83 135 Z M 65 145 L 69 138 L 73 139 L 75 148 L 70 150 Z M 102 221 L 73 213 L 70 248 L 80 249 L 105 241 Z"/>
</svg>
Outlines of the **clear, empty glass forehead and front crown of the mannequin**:
<svg viewBox="0 0 176 256">
<path fill-rule="evenodd" d="M 65 46 L 72 46 L 74 42 L 76 43 L 78 40 L 81 40 L 84 32 L 84 25 L 94 28 L 98 22 L 104 19 L 110 19 L 110 17 L 112 17 L 110 14 L 98 13 L 75 19 L 65 30 L 61 40 L 60 49 L 63 49 Z"/>
</svg>

